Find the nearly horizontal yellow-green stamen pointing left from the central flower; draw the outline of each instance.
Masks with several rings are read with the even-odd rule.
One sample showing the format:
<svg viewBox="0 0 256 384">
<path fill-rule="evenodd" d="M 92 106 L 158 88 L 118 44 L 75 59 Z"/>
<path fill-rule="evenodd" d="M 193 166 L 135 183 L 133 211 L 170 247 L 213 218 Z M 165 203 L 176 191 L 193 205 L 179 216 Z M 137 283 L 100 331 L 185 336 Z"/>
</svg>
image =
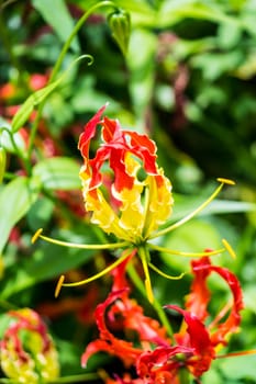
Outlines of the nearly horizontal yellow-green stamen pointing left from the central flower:
<svg viewBox="0 0 256 384">
<path fill-rule="evenodd" d="M 129 241 L 120 241 L 120 242 L 108 242 L 108 244 L 76 244 L 56 240 L 47 236 L 41 235 L 43 233 L 43 228 L 36 230 L 31 241 L 34 244 L 38 238 L 45 240 L 47 242 L 56 244 L 57 246 L 68 247 L 68 248 L 78 248 L 78 249 L 116 249 L 116 248 L 125 248 L 130 245 Z"/>
</svg>

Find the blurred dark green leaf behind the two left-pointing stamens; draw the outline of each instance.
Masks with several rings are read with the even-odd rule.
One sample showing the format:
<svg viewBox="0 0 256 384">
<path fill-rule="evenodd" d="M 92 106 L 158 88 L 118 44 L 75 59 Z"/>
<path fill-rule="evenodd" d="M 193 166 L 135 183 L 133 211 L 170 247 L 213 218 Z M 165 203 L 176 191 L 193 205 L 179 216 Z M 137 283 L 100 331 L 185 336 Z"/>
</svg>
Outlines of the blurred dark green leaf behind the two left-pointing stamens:
<svg viewBox="0 0 256 384">
<path fill-rule="evenodd" d="M 51 235 L 54 238 L 76 244 L 99 241 L 93 236 L 91 227 L 86 224 L 80 227 L 76 226 L 76 234 L 60 229 L 54 230 Z M 33 256 L 20 262 L 19 268 L 12 266 L 5 270 L 4 282 L 0 283 L 2 298 L 42 281 L 58 278 L 62 273 L 88 262 L 98 252 L 97 250 L 59 247 L 41 240 L 37 240 L 36 247 Z"/>
</svg>

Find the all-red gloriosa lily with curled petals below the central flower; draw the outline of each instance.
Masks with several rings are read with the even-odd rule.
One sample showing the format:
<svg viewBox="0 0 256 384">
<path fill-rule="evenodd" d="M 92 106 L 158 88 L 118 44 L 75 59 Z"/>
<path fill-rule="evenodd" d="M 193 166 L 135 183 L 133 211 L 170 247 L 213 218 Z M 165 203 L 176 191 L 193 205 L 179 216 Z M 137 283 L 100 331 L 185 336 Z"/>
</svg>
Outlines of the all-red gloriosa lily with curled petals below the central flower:
<svg viewBox="0 0 256 384">
<path fill-rule="evenodd" d="M 243 308 L 238 280 L 227 269 L 212 266 L 207 256 L 192 261 L 193 281 L 185 303 L 186 309 L 176 305 L 166 306 L 183 317 L 180 330 L 170 340 L 165 328 L 157 320 L 145 316 L 143 308 L 130 298 L 125 280 L 126 263 L 127 260 L 114 270 L 112 291 L 96 309 L 100 335 L 98 340 L 86 348 L 82 365 L 86 366 L 88 359 L 96 352 L 105 351 L 118 357 L 124 368 L 135 369 L 137 374 L 137 377 L 125 381 L 122 377 L 110 379 L 107 380 L 108 384 L 179 384 L 181 371 L 199 379 L 210 369 L 214 359 L 222 357 L 218 354 L 219 350 L 238 330 Z M 216 316 L 210 317 L 208 307 L 211 292 L 207 283 L 212 273 L 226 282 L 233 300 Z M 209 318 L 211 323 L 205 325 Z M 135 335 L 136 341 L 133 343 L 120 339 L 111 329 L 122 329 L 124 336 Z"/>
</svg>

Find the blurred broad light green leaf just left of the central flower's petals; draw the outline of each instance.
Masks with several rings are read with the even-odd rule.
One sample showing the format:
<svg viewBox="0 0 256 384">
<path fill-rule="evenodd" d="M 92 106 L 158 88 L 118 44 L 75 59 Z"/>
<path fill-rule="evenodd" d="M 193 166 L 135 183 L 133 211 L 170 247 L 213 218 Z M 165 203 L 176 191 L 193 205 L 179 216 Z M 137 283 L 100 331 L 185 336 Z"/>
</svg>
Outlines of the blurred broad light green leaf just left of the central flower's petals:
<svg viewBox="0 0 256 384">
<path fill-rule="evenodd" d="M 46 190 L 75 190 L 81 188 L 79 165 L 68 157 L 53 157 L 38 162 L 33 168 Z"/>
</svg>

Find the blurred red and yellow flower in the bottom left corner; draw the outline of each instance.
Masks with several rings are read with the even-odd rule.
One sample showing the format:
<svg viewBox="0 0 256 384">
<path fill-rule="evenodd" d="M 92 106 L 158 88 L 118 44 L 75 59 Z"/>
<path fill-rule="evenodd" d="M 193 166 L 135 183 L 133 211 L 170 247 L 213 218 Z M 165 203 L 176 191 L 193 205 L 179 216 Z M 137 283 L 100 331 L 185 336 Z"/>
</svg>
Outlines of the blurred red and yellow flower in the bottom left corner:
<svg viewBox="0 0 256 384">
<path fill-rule="evenodd" d="M 0 366 L 15 383 L 40 384 L 59 376 L 57 351 L 38 314 L 30 308 L 8 314 L 0 342 Z"/>
</svg>

